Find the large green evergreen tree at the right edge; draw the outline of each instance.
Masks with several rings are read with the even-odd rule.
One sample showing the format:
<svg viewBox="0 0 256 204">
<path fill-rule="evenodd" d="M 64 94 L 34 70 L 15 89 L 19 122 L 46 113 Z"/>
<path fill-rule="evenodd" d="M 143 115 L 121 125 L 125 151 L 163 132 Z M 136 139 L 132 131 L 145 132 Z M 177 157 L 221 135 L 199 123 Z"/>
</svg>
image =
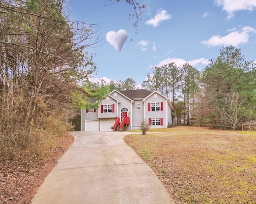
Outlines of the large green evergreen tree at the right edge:
<svg viewBox="0 0 256 204">
<path fill-rule="evenodd" d="M 212 110 L 212 116 L 214 115 L 209 118 L 213 118 L 213 124 L 224 126 L 227 124 L 225 122 L 227 118 L 225 120 L 223 111 L 234 100 L 234 97 L 231 96 L 237 96 L 236 99 L 240 104 L 238 108 L 245 105 L 248 107 L 248 104 L 254 105 L 255 103 L 255 63 L 246 61 L 241 49 L 236 49 L 233 46 L 224 47 L 220 49 L 220 55 L 216 59 L 212 59 L 210 65 L 204 69 L 202 87 L 205 90 L 204 96 L 208 107 Z M 239 102 L 239 100 L 244 100 L 244 97 L 247 104 Z M 244 119 L 240 118 L 240 120 Z"/>
</svg>

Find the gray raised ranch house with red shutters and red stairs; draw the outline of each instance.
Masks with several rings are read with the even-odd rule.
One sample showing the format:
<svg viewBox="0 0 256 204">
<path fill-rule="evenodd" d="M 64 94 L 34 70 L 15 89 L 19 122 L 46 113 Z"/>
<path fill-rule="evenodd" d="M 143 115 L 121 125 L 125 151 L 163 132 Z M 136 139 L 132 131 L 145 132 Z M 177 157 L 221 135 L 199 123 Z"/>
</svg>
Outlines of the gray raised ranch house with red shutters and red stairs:
<svg viewBox="0 0 256 204">
<path fill-rule="evenodd" d="M 157 91 L 113 90 L 98 109 L 82 110 L 82 131 L 119 131 L 140 129 L 142 120 L 150 128 L 167 128 L 174 124 L 174 108 L 168 98 Z"/>
</svg>

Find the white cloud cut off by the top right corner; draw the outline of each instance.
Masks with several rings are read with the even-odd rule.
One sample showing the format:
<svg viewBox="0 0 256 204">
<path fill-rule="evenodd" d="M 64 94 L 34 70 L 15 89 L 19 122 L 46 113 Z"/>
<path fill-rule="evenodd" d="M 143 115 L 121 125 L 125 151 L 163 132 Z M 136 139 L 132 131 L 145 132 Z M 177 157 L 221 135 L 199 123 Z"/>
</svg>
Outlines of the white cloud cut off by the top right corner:
<svg viewBox="0 0 256 204">
<path fill-rule="evenodd" d="M 215 3 L 227 12 L 228 19 L 234 17 L 237 11 L 253 11 L 256 8 L 256 0 L 215 0 Z"/>
</svg>

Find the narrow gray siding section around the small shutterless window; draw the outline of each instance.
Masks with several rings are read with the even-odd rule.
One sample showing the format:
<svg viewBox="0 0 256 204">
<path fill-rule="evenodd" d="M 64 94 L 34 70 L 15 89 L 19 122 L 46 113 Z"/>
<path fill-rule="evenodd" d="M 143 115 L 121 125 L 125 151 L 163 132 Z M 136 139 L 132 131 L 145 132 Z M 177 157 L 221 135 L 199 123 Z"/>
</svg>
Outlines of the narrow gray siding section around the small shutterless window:
<svg viewBox="0 0 256 204">
<path fill-rule="evenodd" d="M 137 109 L 137 104 L 140 104 L 140 109 Z M 140 123 L 144 120 L 144 102 L 136 100 L 132 107 L 132 129 L 140 129 Z"/>
</svg>

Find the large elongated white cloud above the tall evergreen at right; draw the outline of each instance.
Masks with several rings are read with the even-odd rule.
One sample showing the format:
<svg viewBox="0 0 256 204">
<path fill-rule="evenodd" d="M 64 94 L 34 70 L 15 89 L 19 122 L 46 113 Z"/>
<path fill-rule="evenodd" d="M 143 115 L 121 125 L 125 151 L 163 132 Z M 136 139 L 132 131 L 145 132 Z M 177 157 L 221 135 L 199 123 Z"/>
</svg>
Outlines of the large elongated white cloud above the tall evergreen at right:
<svg viewBox="0 0 256 204">
<path fill-rule="evenodd" d="M 234 28 L 233 28 L 234 30 Z M 250 35 L 256 33 L 256 30 L 253 27 L 245 26 L 242 27 L 239 31 L 233 31 L 226 36 L 213 35 L 208 40 L 203 40 L 201 43 L 203 45 L 208 45 L 208 47 L 213 47 L 217 45 L 241 45 L 249 41 Z"/>
</svg>

